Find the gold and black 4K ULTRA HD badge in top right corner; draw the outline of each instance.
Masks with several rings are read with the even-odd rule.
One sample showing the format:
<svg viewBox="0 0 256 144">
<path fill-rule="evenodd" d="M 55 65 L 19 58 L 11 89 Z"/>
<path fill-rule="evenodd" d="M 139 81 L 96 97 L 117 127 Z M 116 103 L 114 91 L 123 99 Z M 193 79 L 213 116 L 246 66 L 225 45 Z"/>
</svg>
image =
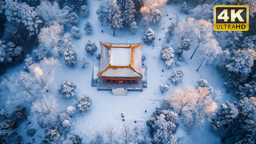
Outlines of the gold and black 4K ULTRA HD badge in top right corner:
<svg viewBox="0 0 256 144">
<path fill-rule="evenodd" d="M 247 5 L 215 5 L 213 27 L 216 31 L 247 31 L 249 7 Z"/>
</svg>

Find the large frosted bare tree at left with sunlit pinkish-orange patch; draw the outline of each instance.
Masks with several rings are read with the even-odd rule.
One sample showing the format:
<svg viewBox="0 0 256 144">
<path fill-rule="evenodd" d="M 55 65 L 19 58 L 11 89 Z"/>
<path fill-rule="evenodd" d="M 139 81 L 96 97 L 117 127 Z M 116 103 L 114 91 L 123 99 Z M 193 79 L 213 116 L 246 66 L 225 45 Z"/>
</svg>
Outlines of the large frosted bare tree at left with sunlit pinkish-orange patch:
<svg viewBox="0 0 256 144">
<path fill-rule="evenodd" d="M 40 63 L 29 66 L 28 72 L 19 72 L 4 80 L 6 89 L 11 93 L 9 100 L 15 107 L 24 101 L 36 100 L 38 93 L 49 91 L 60 63 L 54 58 L 44 58 Z"/>
</svg>

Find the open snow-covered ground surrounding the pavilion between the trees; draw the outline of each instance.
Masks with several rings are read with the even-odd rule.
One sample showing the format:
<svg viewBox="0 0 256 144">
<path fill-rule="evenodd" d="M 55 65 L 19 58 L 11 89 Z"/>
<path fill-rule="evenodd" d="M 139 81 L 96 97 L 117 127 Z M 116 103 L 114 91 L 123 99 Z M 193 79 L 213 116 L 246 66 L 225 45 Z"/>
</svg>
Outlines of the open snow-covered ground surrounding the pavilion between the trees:
<svg viewBox="0 0 256 144">
<path fill-rule="evenodd" d="M 185 59 L 181 65 L 175 65 L 173 68 L 167 69 L 160 57 L 160 49 L 162 45 L 172 46 L 177 51 L 177 45 L 180 43 L 177 36 L 173 36 L 172 41 L 167 44 L 165 41 L 165 32 L 174 18 L 184 19 L 187 17 L 185 14 L 179 12 L 178 5 L 171 4 L 162 8 L 163 17 L 160 24 L 149 27 L 155 32 L 155 41 L 151 44 L 144 44 L 142 55 L 146 56 L 145 64 L 147 66 L 147 88 L 144 88 L 143 92 L 128 91 L 128 96 L 113 96 L 110 91 L 97 91 L 96 87 L 91 87 L 91 75 L 93 65 L 99 65 L 99 60 L 96 56 L 100 54 L 99 42 L 111 42 L 111 43 L 141 43 L 144 31 L 138 23 L 138 29 L 133 35 L 128 28 L 116 30 L 116 36 L 112 36 L 112 29 L 108 27 L 105 22 L 103 26 L 98 22 L 96 10 L 100 5 L 99 0 L 87 0 L 88 8 L 90 9 L 90 15 L 86 18 L 80 17 L 79 28 L 82 36 L 80 39 L 73 39 L 75 51 L 78 55 L 78 60 L 85 58 L 89 64 L 85 69 L 81 66 L 75 68 L 69 68 L 64 64 L 64 60 L 59 58 L 62 67 L 61 71 L 57 73 L 55 86 L 58 88 L 63 80 L 73 81 L 77 85 L 77 96 L 87 94 L 92 99 L 91 110 L 87 113 L 76 111 L 74 117 L 72 117 L 71 133 L 80 135 L 83 138 L 83 142 L 88 143 L 93 138 L 96 132 L 101 132 L 109 126 L 114 126 L 116 130 L 119 130 L 122 125 L 128 125 L 130 128 L 139 124 L 146 127 L 146 120 L 148 120 L 155 111 L 155 108 L 160 105 L 161 100 L 170 95 L 177 87 L 196 86 L 198 79 L 206 79 L 208 83 L 216 90 L 221 90 L 223 98 L 220 99 L 220 103 L 230 99 L 229 93 L 226 93 L 224 89 L 224 80 L 218 74 L 212 64 L 201 66 L 199 72 L 196 71 L 201 63 L 200 51 L 197 51 L 190 60 L 190 56 L 195 49 L 195 45 L 191 46 L 189 51 L 183 53 Z M 168 15 L 168 16 L 167 16 Z M 172 20 L 170 20 L 172 19 Z M 87 35 L 83 30 L 85 22 L 90 21 L 93 27 L 92 34 Z M 164 29 L 165 28 L 165 29 Z M 101 33 L 103 30 L 103 33 Z M 161 40 L 160 40 L 161 39 Z M 98 51 L 93 54 L 86 54 L 84 46 L 88 40 L 92 40 L 96 43 Z M 174 61 L 177 60 L 175 55 Z M 183 81 L 175 85 L 170 85 L 169 91 L 162 94 L 159 90 L 159 85 L 168 82 L 168 78 L 175 69 L 182 69 L 184 72 Z M 22 66 L 9 69 L 7 73 L 19 72 L 22 70 Z M 164 72 L 162 72 L 164 70 Z M 59 111 L 64 111 L 68 105 L 75 106 L 76 100 L 74 98 L 65 99 L 63 96 L 56 92 L 53 92 L 58 99 Z M 145 112 L 147 110 L 147 112 Z M 124 114 L 125 121 L 122 121 L 121 113 Z M 137 121 L 135 124 L 134 121 Z M 196 126 L 194 130 L 188 134 L 184 129 L 181 121 L 178 126 L 176 136 L 179 144 L 217 144 L 219 143 L 219 135 L 213 133 L 210 130 L 210 123 L 206 122 L 203 126 Z M 24 133 L 24 142 L 31 141 L 30 137 L 27 137 L 25 125 L 20 126 L 19 134 Z M 37 130 L 39 127 L 36 125 Z M 40 129 L 36 135 L 44 137 L 44 130 Z M 181 139 L 179 139 L 181 138 Z"/>
</svg>

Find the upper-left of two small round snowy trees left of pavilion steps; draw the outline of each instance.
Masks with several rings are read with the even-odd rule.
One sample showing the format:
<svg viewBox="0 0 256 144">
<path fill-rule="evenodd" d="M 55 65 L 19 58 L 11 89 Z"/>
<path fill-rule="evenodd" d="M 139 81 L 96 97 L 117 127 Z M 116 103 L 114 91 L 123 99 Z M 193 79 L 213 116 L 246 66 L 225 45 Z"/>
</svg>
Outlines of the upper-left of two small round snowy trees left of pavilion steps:
<svg viewBox="0 0 256 144">
<path fill-rule="evenodd" d="M 75 96 L 76 85 L 72 81 L 62 81 L 59 94 L 64 95 L 66 98 Z"/>
</svg>

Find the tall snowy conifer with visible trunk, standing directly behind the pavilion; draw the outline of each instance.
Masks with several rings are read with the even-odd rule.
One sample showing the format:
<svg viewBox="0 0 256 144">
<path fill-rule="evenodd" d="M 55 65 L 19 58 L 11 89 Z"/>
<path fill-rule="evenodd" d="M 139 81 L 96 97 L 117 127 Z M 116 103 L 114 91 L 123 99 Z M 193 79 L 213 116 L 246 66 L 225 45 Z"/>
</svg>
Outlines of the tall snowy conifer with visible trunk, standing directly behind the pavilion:
<svg viewBox="0 0 256 144">
<path fill-rule="evenodd" d="M 115 36 L 115 28 L 123 27 L 123 19 L 121 11 L 116 3 L 112 3 L 109 9 L 109 27 L 113 28 L 113 36 Z"/>
</svg>

